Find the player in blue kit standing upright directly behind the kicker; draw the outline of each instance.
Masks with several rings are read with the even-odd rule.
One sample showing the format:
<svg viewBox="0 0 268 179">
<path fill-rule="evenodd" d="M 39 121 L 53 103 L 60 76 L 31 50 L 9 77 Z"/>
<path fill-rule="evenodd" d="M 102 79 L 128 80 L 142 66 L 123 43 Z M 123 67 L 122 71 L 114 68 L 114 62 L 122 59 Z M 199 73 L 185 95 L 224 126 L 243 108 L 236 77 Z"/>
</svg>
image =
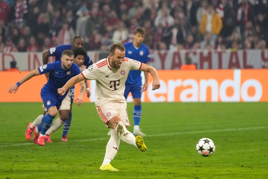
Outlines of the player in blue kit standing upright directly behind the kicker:
<svg viewBox="0 0 268 179">
<path fill-rule="evenodd" d="M 136 27 L 134 31 L 134 41 L 123 44 L 126 48 L 126 58 L 131 58 L 141 63 L 148 64 L 150 61 L 149 49 L 142 42 L 144 41 L 146 31 L 143 27 Z M 148 72 L 144 72 L 145 82 L 142 85 L 141 82 L 141 71 L 139 70 L 131 70 L 127 77 L 127 81 L 125 83 L 125 91 L 124 97 L 127 99 L 127 95 L 131 92 L 134 100 L 134 135 L 145 136 L 143 132 L 141 132 L 140 120 L 141 120 L 141 94 L 143 91 L 148 88 Z"/>
</svg>

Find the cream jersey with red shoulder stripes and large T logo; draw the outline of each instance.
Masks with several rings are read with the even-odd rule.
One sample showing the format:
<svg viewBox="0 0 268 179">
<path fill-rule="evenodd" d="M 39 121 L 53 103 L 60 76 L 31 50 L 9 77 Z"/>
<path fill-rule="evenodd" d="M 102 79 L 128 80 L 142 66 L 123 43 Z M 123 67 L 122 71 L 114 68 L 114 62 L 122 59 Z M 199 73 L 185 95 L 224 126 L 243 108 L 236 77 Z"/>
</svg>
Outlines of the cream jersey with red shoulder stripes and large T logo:
<svg viewBox="0 0 268 179">
<path fill-rule="evenodd" d="M 96 80 L 96 106 L 99 103 L 126 102 L 124 90 L 127 75 L 130 70 L 141 69 L 141 62 L 126 57 L 119 69 L 113 68 L 108 58 L 92 64 L 82 72 L 85 79 Z"/>
</svg>

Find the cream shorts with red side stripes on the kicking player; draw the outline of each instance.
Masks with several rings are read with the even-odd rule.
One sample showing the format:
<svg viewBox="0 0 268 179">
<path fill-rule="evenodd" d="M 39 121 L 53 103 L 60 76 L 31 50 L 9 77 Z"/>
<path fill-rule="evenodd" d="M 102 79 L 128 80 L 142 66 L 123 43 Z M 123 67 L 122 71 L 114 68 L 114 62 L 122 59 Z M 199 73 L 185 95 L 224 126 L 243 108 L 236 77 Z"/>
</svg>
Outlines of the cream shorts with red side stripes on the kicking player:
<svg viewBox="0 0 268 179">
<path fill-rule="evenodd" d="M 112 102 L 112 103 L 101 103 L 96 106 L 99 117 L 106 123 L 113 118 L 115 115 L 119 115 L 121 120 L 126 126 L 130 126 L 127 116 L 127 103 Z"/>
</svg>

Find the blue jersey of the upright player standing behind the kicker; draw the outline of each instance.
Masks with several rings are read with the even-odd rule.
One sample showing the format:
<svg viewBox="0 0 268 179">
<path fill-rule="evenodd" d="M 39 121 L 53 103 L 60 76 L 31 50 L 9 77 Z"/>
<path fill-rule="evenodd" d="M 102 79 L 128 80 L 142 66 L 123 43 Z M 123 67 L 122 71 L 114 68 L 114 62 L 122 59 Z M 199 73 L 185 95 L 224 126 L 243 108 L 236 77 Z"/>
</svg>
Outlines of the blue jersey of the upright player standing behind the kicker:
<svg viewBox="0 0 268 179">
<path fill-rule="evenodd" d="M 141 44 L 141 47 L 138 49 L 134 47 L 133 42 L 128 42 L 123 45 L 126 48 L 125 57 L 140 61 L 141 63 L 147 63 L 150 61 L 149 49 L 146 45 Z M 139 81 L 141 81 L 141 71 L 130 70 L 125 84 L 133 85 Z"/>
</svg>

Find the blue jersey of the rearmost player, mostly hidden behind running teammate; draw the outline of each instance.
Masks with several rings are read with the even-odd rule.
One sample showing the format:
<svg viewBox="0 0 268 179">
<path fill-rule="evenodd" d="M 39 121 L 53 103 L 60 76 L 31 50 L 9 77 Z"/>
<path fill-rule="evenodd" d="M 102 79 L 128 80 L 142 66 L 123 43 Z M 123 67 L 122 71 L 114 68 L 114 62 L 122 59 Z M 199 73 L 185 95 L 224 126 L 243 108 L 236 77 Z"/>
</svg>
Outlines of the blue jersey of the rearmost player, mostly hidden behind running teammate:
<svg viewBox="0 0 268 179">
<path fill-rule="evenodd" d="M 71 50 L 72 45 L 59 45 L 57 47 L 52 47 L 49 49 L 49 56 L 55 56 L 55 62 L 61 61 L 61 55 L 64 50 Z M 93 64 L 92 59 L 87 55 L 84 61 L 84 65 L 88 68 Z"/>
</svg>

